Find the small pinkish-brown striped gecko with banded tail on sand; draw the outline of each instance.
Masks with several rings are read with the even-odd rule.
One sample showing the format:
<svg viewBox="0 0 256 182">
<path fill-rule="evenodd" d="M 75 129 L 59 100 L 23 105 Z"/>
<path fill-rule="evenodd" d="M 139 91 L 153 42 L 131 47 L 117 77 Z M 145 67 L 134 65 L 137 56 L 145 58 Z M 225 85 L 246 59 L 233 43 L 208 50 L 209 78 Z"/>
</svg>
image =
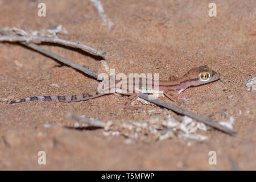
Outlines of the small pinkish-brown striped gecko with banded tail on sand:
<svg viewBox="0 0 256 182">
<path fill-rule="evenodd" d="M 220 78 L 220 73 L 213 71 L 208 65 L 196 67 L 190 69 L 185 75 L 181 76 L 180 78 L 177 77 L 170 77 L 169 80 L 159 80 L 158 81 L 158 89 L 155 89 L 154 82 L 155 80 L 151 80 L 152 89 L 150 93 L 155 92 L 162 92 L 166 97 L 170 98 L 172 101 L 175 101 L 173 98 L 173 94 L 180 94 L 185 89 L 189 88 L 190 86 L 198 86 L 202 84 L 207 84 L 209 82 L 216 81 Z M 130 97 L 125 102 L 125 105 L 129 105 L 133 100 L 135 100 L 140 93 L 142 93 L 142 78 L 139 78 L 139 82 L 135 82 L 135 78 L 133 78 L 132 82 L 130 80 L 126 80 L 126 86 L 121 85 L 119 88 L 115 90 L 116 93 L 130 95 Z M 130 83 L 129 83 L 130 82 Z M 135 84 L 137 83 L 137 84 Z M 117 86 L 120 84 L 120 80 L 114 80 L 114 85 Z M 110 85 L 110 81 L 109 81 Z M 129 86 L 133 86 L 133 92 L 128 92 Z M 138 88 L 138 89 L 136 89 Z M 102 89 L 102 92 L 98 92 L 98 89 L 93 90 L 92 92 L 82 93 L 79 95 L 73 96 L 35 96 L 35 97 L 28 97 L 19 100 L 9 101 L 9 104 L 15 104 L 18 102 L 26 102 L 26 101 L 54 101 L 59 100 L 60 102 L 79 102 L 79 101 L 86 101 L 92 98 L 104 96 L 106 94 L 110 94 L 110 90 L 112 86 L 110 85 L 107 89 Z M 129 89 L 130 91 L 130 89 Z M 145 92 L 143 92 L 145 93 Z"/>
</svg>

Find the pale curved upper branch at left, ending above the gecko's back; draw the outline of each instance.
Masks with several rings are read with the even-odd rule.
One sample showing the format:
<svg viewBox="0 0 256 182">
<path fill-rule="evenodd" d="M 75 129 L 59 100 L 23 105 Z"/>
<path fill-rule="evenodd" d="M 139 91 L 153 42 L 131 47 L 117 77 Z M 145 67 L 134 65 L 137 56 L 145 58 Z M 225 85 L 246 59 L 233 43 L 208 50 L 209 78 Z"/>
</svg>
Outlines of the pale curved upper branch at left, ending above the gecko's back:
<svg viewBox="0 0 256 182">
<path fill-rule="evenodd" d="M 92 55 L 101 56 L 104 59 L 108 55 L 105 51 L 94 49 L 92 47 L 86 46 L 80 42 L 71 42 L 69 40 L 63 40 L 59 38 L 49 38 L 43 36 L 0 36 L 0 42 L 26 42 L 40 44 L 42 42 L 47 43 L 57 43 L 68 47 L 79 48 L 82 51 L 89 52 Z"/>
</svg>

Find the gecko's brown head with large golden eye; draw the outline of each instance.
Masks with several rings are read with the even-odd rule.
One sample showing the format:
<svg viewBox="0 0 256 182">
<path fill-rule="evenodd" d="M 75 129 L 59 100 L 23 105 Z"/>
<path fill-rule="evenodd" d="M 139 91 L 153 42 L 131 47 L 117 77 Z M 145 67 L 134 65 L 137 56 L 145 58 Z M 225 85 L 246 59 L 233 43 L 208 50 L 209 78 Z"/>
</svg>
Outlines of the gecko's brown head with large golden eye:
<svg viewBox="0 0 256 182">
<path fill-rule="evenodd" d="M 191 78 L 191 85 L 197 86 L 218 80 L 220 73 L 213 71 L 208 65 L 204 65 L 191 69 L 188 76 Z"/>
</svg>

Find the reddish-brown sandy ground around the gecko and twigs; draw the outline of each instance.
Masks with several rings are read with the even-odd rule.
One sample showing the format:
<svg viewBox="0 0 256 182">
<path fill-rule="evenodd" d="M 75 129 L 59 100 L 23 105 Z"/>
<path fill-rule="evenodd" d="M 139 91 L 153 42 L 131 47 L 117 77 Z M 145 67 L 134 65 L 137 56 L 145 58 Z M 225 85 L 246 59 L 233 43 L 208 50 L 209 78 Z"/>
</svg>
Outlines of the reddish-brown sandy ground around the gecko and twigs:
<svg viewBox="0 0 256 182">
<path fill-rule="evenodd" d="M 189 98 L 183 107 L 216 121 L 233 117 L 239 135 L 209 130 L 196 132 L 209 137 L 203 142 L 175 135 L 162 141 L 134 139 L 129 143 L 122 135 L 104 135 L 102 129 L 67 127 L 75 122 L 65 117 L 67 111 L 115 123 L 143 122 L 164 113 L 180 117 L 139 102 L 143 110 L 123 110 L 127 97 L 118 94 L 76 103 L 0 102 L 0 169 L 256 169 L 256 95 L 245 86 L 255 77 L 255 1 L 214 1 L 217 17 L 212 18 L 208 16 L 211 1 L 102 1 L 105 14 L 115 24 L 112 30 L 90 1 L 43 2 L 46 17 L 37 15 L 39 1 L 1 0 L 0 27 L 41 30 L 62 24 L 68 35 L 60 38 L 108 52 L 106 61 L 116 73 L 159 73 L 166 80 L 207 64 L 221 73 L 221 79 L 182 92 L 179 97 Z M 100 61 L 87 53 L 56 45 L 43 47 L 104 72 Z M 1 43 L 1 101 L 79 94 L 96 88 L 96 80 L 57 65 L 26 47 Z M 39 151 L 46 151 L 46 165 L 38 164 Z M 216 165 L 208 163 L 209 151 L 217 152 Z"/>
</svg>

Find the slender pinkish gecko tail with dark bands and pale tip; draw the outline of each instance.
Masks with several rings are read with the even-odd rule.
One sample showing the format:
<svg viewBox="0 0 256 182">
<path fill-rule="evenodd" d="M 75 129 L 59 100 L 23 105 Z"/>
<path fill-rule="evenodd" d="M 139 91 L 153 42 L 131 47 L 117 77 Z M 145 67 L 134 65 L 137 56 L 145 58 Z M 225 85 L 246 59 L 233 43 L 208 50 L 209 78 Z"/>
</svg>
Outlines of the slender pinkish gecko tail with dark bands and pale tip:
<svg viewBox="0 0 256 182">
<path fill-rule="evenodd" d="M 55 101 L 59 100 L 60 102 L 79 102 L 86 101 L 91 98 L 96 98 L 105 95 L 106 93 L 98 93 L 97 90 L 89 93 L 83 93 L 80 95 L 73 96 L 36 96 L 36 97 L 28 97 L 22 98 L 19 100 L 9 101 L 9 104 L 15 104 L 19 102 L 27 102 L 27 101 Z"/>
</svg>

